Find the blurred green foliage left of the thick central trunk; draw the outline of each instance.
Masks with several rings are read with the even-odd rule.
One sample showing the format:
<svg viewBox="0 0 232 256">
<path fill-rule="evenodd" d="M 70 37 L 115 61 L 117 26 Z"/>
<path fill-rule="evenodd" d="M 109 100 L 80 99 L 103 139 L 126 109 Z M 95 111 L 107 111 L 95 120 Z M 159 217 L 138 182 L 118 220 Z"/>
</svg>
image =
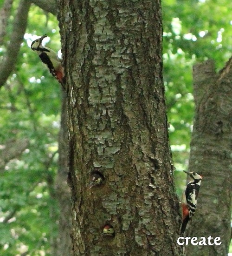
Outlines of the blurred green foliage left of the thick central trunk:
<svg viewBox="0 0 232 256">
<path fill-rule="evenodd" d="M 51 255 L 58 233 L 54 179 L 61 99 L 58 82 L 30 49 L 32 38 L 42 34 L 52 37 L 51 47 L 60 49 L 56 18 L 33 6 L 14 74 L 1 88 L 0 148 L 10 139 L 29 141 L 22 155 L 0 171 L 0 255 L 5 256 L 26 251 Z M 2 55 L 5 47 L 0 51 Z"/>
</svg>

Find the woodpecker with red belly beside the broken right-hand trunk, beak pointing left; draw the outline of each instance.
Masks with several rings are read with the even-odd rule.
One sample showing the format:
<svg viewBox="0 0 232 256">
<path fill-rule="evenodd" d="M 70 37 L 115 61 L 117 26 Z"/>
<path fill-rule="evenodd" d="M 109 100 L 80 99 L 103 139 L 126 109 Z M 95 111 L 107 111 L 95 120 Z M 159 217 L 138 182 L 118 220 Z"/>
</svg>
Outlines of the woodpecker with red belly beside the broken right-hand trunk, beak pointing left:
<svg viewBox="0 0 232 256">
<path fill-rule="evenodd" d="M 180 235 L 184 234 L 188 221 L 192 219 L 195 213 L 200 182 L 202 179 L 202 177 L 196 172 L 184 172 L 190 176 L 190 182 L 188 182 L 185 192 L 182 196 L 181 208 L 183 221 L 180 228 Z"/>
</svg>

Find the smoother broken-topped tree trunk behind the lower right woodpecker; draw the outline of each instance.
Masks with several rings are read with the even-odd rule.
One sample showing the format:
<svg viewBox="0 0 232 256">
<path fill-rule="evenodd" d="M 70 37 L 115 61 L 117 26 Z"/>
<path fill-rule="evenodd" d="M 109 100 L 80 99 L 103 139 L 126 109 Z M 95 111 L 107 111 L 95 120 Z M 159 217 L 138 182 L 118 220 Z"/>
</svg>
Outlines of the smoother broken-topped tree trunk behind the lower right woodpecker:
<svg viewBox="0 0 232 256">
<path fill-rule="evenodd" d="M 190 245 L 186 251 L 188 256 L 226 256 L 232 210 L 232 58 L 219 74 L 213 61 L 195 65 L 193 82 L 196 114 L 189 170 L 203 179 L 188 236 L 218 236 L 222 243 Z"/>
</svg>

